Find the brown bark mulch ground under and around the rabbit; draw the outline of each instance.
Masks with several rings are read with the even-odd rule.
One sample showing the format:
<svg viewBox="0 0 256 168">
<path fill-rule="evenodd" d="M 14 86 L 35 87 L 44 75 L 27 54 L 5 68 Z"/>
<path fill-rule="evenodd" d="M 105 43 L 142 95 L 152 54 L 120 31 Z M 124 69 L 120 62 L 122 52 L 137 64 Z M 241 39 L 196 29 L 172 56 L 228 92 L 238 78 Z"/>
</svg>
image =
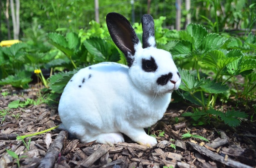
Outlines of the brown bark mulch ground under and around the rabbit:
<svg viewBox="0 0 256 168">
<path fill-rule="evenodd" d="M 158 145 L 154 148 L 138 145 L 128 137 L 126 142 L 113 147 L 97 142 L 80 143 L 70 138 L 65 130 L 53 130 L 31 138 L 29 150 L 18 135 L 46 130 L 61 124 L 57 106 L 47 104 L 28 105 L 9 109 L 14 100 L 37 99 L 38 89 L 19 90 L 10 86 L 2 87 L 0 94 L 0 167 L 18 167 L 17 159 L 6 151 L 12 150 L 19 156 L 21 167 L 256 167 L 256 124 L 245 121 L 241 126 L 226 125 L 192 126 L 179 117 L 187 107 L 172 104 L 162 120 L 152 126 Z M 184 119 L 184 120 L 183 120 Z M 161 131 L 164 131 L 162 136 Z M 198 138 L 181 139 L 190 131 L 207 138 L 207 143 Z M 28 143 L 28 139 L 25 141 Z M 176 148 L 172 147 L 175 144 Z"/>
</svg>

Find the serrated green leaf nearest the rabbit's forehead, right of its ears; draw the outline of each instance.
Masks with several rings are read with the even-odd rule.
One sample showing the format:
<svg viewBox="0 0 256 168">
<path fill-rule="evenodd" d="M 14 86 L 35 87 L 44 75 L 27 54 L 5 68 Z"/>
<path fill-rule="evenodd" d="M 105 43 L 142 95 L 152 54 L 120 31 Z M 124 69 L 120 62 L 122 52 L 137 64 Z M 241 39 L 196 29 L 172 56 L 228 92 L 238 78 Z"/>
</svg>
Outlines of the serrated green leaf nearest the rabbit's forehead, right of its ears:
<svg viewBox="0 0 256 168">
<path fill-rule="evenodd" d="M 174 59 L 183 59 L 188 57 L 189 53 L 192 51 L 192 44 L 188 41 L 178 41 L 170 50 Z"/>
</svg>

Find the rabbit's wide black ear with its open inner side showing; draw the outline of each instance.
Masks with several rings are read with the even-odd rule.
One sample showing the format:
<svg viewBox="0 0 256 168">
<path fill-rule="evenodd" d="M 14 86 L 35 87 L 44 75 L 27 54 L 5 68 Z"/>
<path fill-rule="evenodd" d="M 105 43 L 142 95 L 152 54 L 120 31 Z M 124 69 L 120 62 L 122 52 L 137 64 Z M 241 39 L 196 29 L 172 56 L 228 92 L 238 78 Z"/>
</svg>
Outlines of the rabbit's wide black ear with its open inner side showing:
<svg viewBox="0 0 256 168">
<path fill-rule="evenodd" d="M 140 43 L 130 22 L 119 13 L 109 13 L 106 16 L 109 34 L 115 45 L 125 54 L 128 66 L 134 60 L 136 46 Z"/>
</svg>

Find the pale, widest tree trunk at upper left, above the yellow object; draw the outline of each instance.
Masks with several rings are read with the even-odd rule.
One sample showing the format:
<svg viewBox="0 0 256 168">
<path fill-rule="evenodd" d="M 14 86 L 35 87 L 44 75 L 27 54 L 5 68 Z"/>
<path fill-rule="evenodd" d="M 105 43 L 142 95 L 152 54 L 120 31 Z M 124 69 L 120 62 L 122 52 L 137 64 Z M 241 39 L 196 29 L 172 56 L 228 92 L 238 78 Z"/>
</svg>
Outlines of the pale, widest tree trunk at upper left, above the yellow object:
<svg viewBox="0 0 256 168">
<path fill-rule="evenodd" d="M 13 24 L 13 39 L 19 40 L 19 34 L 20 34 L 20 0 L 15 0 L 15 6 L 14 9 L 14 2 L 13 0 L 10 0 L 10 6 L 11 6 L 11 18 L 12 18 L 12 24 Z"/>
</svg>

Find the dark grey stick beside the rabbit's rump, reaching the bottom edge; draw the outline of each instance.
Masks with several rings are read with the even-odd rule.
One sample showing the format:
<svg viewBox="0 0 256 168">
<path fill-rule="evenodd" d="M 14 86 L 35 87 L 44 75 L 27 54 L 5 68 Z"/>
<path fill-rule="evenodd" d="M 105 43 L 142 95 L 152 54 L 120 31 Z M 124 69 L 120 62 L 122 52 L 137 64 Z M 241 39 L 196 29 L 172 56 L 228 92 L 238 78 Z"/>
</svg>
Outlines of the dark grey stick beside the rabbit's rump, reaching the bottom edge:
<svg viewBox="0 0 256 168">
<path fill-rule="evenodd" d="M 54 163 L 63 148 L 64 140 L 67 139 L 67 137 L 68 132 L 64 130 L 57 135 L 47 150 L 45 157 L 40 160 L 38 168 L 52 168 L 54 166 Z"/>
</svg>

